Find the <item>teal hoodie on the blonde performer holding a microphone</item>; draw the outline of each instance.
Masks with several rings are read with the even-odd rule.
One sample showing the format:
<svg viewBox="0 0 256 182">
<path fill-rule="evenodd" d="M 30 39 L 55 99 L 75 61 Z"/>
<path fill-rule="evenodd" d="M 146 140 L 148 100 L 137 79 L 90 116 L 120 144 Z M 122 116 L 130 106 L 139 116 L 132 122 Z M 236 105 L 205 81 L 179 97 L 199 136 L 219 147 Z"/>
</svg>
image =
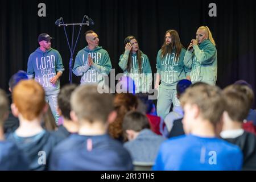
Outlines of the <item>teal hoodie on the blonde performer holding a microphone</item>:
<svg viewBox="0 0 256 182">
<path fill-rule="evenodd" d="M 184 64 L 191 68 L 191 81 L 206 82 L 215 85 L 217 81 L 217 49 L 209 39 L 199 46 L 193 46 L 194 51 L 187 51 Z"/>
</svg>

